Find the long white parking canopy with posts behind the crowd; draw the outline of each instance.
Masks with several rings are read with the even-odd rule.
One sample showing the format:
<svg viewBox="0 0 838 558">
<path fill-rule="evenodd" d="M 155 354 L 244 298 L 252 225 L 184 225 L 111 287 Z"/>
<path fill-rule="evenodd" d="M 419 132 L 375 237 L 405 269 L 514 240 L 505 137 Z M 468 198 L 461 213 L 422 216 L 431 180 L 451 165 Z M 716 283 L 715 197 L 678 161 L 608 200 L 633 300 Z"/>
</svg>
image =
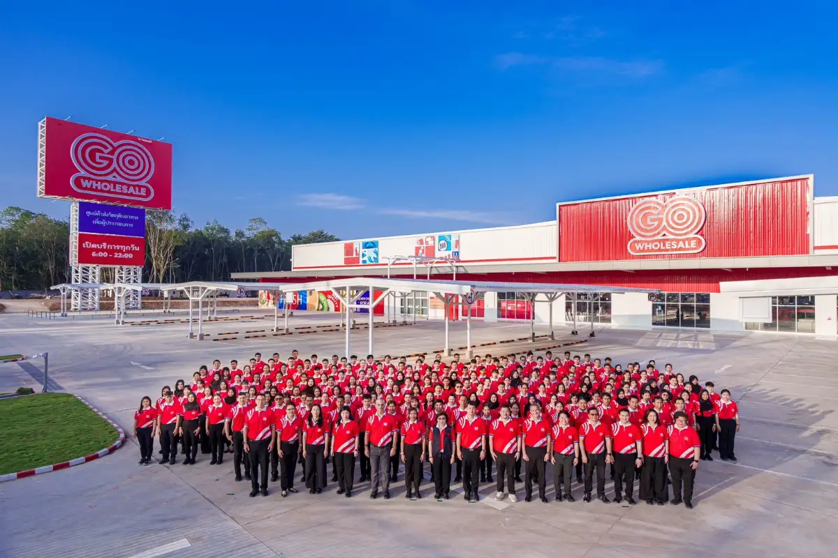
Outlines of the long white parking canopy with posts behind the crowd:
<svg viewBox="0 0 838 558">
<path fill-rule="evenodd" d="M 469 347 L 468 355 L 471 356 L 471 306 L 476 302 L 477 295 L 486 292 L 496 291 L 517 291 L 524 294 L 530 300 L 530 303 L 548 302 L 550 303 L 550 330 L 551 337 L 553 336 L 553 306 L 552 303 L 561 294 L 578 294 L 578 293 L 660 293 L 658 289 L 638 289 L 633 287 L 607 287 L 603 285 L 588 285 L 588 284 L 533 284 L 533 283 L 494 283 L 494 282 L 475 282 L 475 281 L 442 281 L 431 279 L 385 279 L 380 277 L 355 277 L 348 279 L 330 279 L 326 281 L 312 281 L 308 283 L 243 283 L 243 282 L 215 282 L 215 281 L 190 281 L 188 283 L 173 283 L 173 284 L 60 284 L 55 285 L 52 289 L 59 289 L 62 294 L 62 309 L 64 308 L 65 293 L 70 289 L 112 289 L 116 299 L 116 323 L 122 324 L 125 310 L 124 303 L 120 305 L 118 300 L 124 299 L 127 291 L 132 289 L 159 289 L 164 296 L 175 291 L 183 291 L 189 299 L 189 338 L 193 339 L 195 334 L 192 327 L 192 302 L 198 301 L 198 332 L 197 338 L 204 339 L 204 320 L 202 316 L 202 302 L 205 299 L 217 297 L 220 292 L 237 292 L 240 290 L 271 290 L 277 291 L 284 297 L 286 293 L 294 293 L 301 291 L 322 291 L 331 290 L 335 296 L 338 297 L 341 304 L 344 305 L 345 311 L 345 325 L 346 325 L 346 341 L 345 354 L 350 354 L 350 340 L 349 334 L 351 330 L 351 313 L 352 309 L 368 309 L 370 320 L 369 331 L 369 345 L 368 352 L 373 353 L 374 348 L 374 328 L 373 318 L 374 309 L 385 296 L 391 291 L 394 292 L 410 292 L 410 291 L 427 291 L 435 294 L 438 299 L 442 299 L 445 304 L 445 352 L 450 354 L 449 346 L 449 320 L 447 320 L 448 309 L 451 305 L 463 305 L 468 308 L 466 312 L 466 345 Z M 354 291 L 354 293 L 353 293 Z M 361 294 L 365 291 L 370 293 L 369 303 L 359 303 Z M 375 291 L 380 291 L 378 296 L 375 296 Z M 539 295 L 543 295 L 544 299 L 537 299 Z M 288 330 L 288 310 L 285 306 L 285 331 Z M 122 316 L 122 318 L 121 318 Z M 278 305 L 274 306 L 274 331 L 279 330 L 279 315 Z M 530 318 L 530 340 L 535 340 L 534 331 L 535 312 Z M 592 318 L 593 320 L 593 318 Z M 574 322 L 573 335 L 577 335 L 576 323 Z M 594 335 L 593 321 L 591 321 L 591 336 Z"/>
</svg>

